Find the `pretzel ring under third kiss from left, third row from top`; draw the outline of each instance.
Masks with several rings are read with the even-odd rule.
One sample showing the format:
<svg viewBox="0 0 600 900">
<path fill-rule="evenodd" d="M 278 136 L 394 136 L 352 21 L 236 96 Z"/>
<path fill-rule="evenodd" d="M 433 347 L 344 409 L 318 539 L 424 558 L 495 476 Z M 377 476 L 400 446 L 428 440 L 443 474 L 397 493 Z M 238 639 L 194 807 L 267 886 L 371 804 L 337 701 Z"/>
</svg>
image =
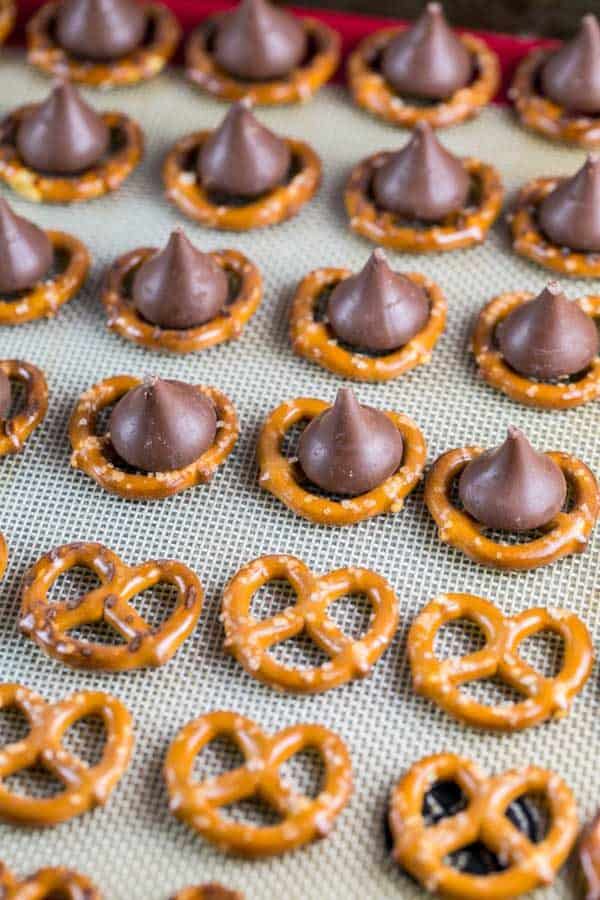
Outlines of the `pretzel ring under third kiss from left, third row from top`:
<svg viewBox="0 0 600 900">
<path fill-rule="evenodd" d="M 415 366 L 428 363 L 446 324 L 447 304 L 441 288 L 425 275 L 407 272 L 406 277 L 427 294 L 429 319 L 403 347 L 371 356 L 347 348 L 338 341 L 327 322 L 318 317 L 324 295 L 351 275 L 349 269 L 316 269 L 302 279 L 290 311 L 290 337 L 294 351 L 342 378 L 357 381 L 389 381 Z"/>
</svg>

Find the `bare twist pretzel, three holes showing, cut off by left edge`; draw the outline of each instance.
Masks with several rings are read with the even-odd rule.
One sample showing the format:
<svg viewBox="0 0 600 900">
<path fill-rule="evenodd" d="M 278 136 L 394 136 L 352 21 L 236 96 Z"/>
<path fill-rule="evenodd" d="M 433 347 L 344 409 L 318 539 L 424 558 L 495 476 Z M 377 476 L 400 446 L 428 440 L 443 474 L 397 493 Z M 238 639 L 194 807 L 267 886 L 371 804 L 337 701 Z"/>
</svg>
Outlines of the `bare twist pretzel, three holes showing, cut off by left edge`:
<svg viewBox="0 0 600 900">
<path fill-rule="evenodd" d="M 0 684 L 0 709 L 16 707 L 27 719 L 27 737 L 0 750 L 0 818 L 18 825 L 46 827 L 103 806 L 127 770 L 133 750 L 131 716 L 120 700 L 100 691 L 81 691 L 58 703 L 46 703 L 19 684 Z M 104 753 L 88 766 L 66 750 L 62 739 L 75 722 L 101 716 L 106 728 Z M 42 765 L 64 784 L 51 797 L 14 793 L 4 779 Z"/>
</svg>

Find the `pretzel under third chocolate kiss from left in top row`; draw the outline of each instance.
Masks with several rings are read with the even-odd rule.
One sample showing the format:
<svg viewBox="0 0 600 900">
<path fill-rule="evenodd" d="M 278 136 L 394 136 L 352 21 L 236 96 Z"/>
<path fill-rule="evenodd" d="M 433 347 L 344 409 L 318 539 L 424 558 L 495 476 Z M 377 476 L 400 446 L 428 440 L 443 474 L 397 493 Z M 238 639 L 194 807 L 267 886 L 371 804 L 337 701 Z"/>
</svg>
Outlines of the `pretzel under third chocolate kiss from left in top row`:
<svg viewBox="0 0 600 900">
<path fill-rule="evenodd" d="M 459 35 L 474 59 L 477 70 L 470 84 L 455 91 L 447 100 L 431 105 L 405 101 L 386 81 L 379 69 L 385 48 L 402 31 L 384 28 L 360 42 L 348 59 L 348 85 L 354 102 L 402 128 L 414 128 L 417 122 L 429 122 L 433 128 L 446 128 L 477 115 L 493 98 L 500 85 L 498 57 L 472 34 Z"/>
</svg>

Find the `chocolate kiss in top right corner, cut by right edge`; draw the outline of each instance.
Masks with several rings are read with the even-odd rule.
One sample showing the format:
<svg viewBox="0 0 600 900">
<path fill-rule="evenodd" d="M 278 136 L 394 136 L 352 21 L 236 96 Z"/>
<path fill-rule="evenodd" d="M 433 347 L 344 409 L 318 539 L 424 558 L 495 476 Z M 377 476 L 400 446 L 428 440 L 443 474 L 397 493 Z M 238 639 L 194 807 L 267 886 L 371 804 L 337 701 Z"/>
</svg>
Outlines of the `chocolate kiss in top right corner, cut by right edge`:
<svg viewBox="0 0 600 900">
<path fill-rule="evenodd" d="M 547 97 L 572 112 L 600 112 L 600 25 L 592 13 L 572 41 L 553 53 L 541 72 Z"/>
</svg>

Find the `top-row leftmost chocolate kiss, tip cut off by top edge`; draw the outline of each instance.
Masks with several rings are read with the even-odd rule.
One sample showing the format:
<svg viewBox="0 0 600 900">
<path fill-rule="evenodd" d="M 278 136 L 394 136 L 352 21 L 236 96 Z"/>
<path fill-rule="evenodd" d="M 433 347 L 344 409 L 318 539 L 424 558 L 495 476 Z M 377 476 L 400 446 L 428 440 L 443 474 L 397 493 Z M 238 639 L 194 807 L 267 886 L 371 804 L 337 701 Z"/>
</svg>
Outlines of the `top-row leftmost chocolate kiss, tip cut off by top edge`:
<svg viewBox="0 0 600 900">
<path fill-rule="evenodd" d="M 62 0 L 56 38 L 68 53 L 98 62 L 126 56 L 144 40 L 146 16 L 131 0 Z"/>
</svg>

